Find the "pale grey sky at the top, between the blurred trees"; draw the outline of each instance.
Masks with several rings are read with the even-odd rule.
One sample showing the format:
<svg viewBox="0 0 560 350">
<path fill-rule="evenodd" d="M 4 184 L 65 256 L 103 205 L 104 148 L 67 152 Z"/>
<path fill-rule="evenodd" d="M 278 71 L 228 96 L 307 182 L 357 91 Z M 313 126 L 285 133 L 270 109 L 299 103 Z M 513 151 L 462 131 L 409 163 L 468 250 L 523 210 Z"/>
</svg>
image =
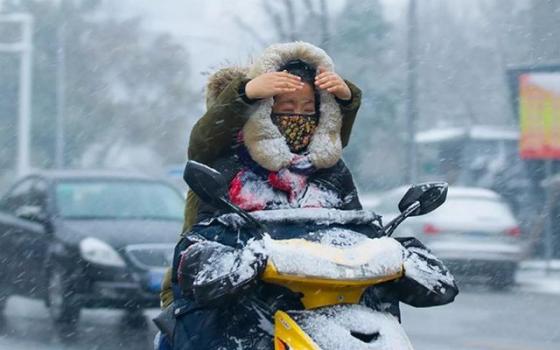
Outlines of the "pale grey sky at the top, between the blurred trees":
<svg viewBox="0 0 560 350">
<path fill-rule="evenodd" d="M 329 0 L 329 12 L 337 13 L 346 0 Z M 385 0 L 387 15 L 402 13 L 406 0 Z M 173 33 L 191 56 L 193 84 L 202 86 L 204 72 L 220 65 L 244 64 L 262 49 L 250 34 L 235 23 L 235 16 L 254 26 L 265 39 L 269 36 L 259 0 L 121 0 L 106 1 L 111 10 L 142 15 L 150 27 Z M 132 12 L 131 12 L 132 10 Z M 331 28 L 331 30 L 333 30 Z"/>
</svg>

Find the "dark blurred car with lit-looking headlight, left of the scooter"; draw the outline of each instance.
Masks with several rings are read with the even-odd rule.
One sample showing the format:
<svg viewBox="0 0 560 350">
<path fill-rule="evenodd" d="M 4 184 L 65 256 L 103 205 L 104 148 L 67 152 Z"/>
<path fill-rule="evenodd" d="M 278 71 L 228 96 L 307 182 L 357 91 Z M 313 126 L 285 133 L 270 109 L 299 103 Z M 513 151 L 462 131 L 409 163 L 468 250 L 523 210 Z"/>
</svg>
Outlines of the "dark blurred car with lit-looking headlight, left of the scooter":
<svg viewBox="0 0 560 350">
<path fill-rule="evenodd" d="M 82 308 L 158 307 L 183 207 L 180 191 L 141 175 L 26 176 L 0 200 L 0 300 L 43 299 L 65 332 Z"/>
</svg>

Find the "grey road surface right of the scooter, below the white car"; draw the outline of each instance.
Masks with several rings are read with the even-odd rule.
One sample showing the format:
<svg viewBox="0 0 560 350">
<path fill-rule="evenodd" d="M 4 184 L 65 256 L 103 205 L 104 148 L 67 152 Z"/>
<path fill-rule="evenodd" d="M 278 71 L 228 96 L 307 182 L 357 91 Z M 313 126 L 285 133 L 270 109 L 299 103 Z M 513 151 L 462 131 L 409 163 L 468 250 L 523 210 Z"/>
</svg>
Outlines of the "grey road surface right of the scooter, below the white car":
<svg viewBox="0 0 560 350">
<path fill-rule="evenodd" d="M 560 295 L 465 287 L 453 304 L 403 307 L 416 350 L 558 350 Z"/>
</svg>

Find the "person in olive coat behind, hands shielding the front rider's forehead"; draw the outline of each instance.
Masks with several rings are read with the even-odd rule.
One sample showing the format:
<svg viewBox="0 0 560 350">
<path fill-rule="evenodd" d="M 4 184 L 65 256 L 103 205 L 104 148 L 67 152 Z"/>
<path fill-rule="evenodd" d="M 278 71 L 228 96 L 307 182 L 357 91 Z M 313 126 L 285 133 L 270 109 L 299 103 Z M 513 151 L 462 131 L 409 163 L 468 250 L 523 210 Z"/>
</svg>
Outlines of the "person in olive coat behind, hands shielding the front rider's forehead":
<svg viewBox="0 0 560 350">
<path fill-rule="evenodd" d="M 250 79 L 248 68 L 228 67 L 214 73 L 208 79 L 206 105 L 208 110 L 192 128 L 188 147 L 188 157 L 203 164 L 213 165 L 221 158 L 235 155 L 237 136 L 250 114 L 263 98 L 281 93 L 300 90 L 300 77 L 288 72 L 263 73 L 258 79 Z M 249 86 L 247 97 L 245 88 Z M 313 85 L 313 84 L 312 84 Z M 315 89 L 333 95 L 342 115 L 340 141 L 346 147 L 352 126 L 361 104 L 362 92 L 334 71 L 317 72 Z M 199 198 L 192 191 L 187 193 L 183 232 L 188 232 L 197 222 Z M 165 275 L 161 290 L 163 308 L 173 302 L 171 290 L 171 270 Z"/>
</svg>

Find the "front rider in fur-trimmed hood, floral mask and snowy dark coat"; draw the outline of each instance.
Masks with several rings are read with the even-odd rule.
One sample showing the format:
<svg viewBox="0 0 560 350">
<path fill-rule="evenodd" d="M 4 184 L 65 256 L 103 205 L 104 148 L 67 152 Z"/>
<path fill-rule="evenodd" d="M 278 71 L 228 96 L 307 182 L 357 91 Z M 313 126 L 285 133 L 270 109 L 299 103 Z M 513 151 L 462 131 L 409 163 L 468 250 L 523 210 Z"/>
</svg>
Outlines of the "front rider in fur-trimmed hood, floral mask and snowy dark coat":
<svg viewBox="0 0 560 350">
<path fill-rule="evenodd" d="M 242 209 L 361 209 L 341 160 L 340 107 L 329 91 L 315 88 L 317 69 L 332 70 L 324 51 L 290 43 L 267 49 L 247 73 L 251 80 L 242 92 L 254 111 L 237 135 L 235 154 L 212 164 L 228 179 L 229 200 Z M 272 76 L 285 77 L 285 91 L 266 92 Z M 255 245 L 239 248 L 233 232 L 204 224 L 220 214 L 219 208 L 200 203 L 199 224 L 180 243 L 184 251 L 173 276 L 174 348 L 270 349 L 263 305 L 298 309 L 301 303 L 297 295 L 256 278 L 264 257 Z M 416 240 L 401 243 L 403 259 L 421 261 L 437 283 L 426 285 L 405 274 L 366 293 L 364 303 L 398 316 L 399 301 L 416 306 L 451 302 L 457 288 L 441 262 Z"/>
</svg>

